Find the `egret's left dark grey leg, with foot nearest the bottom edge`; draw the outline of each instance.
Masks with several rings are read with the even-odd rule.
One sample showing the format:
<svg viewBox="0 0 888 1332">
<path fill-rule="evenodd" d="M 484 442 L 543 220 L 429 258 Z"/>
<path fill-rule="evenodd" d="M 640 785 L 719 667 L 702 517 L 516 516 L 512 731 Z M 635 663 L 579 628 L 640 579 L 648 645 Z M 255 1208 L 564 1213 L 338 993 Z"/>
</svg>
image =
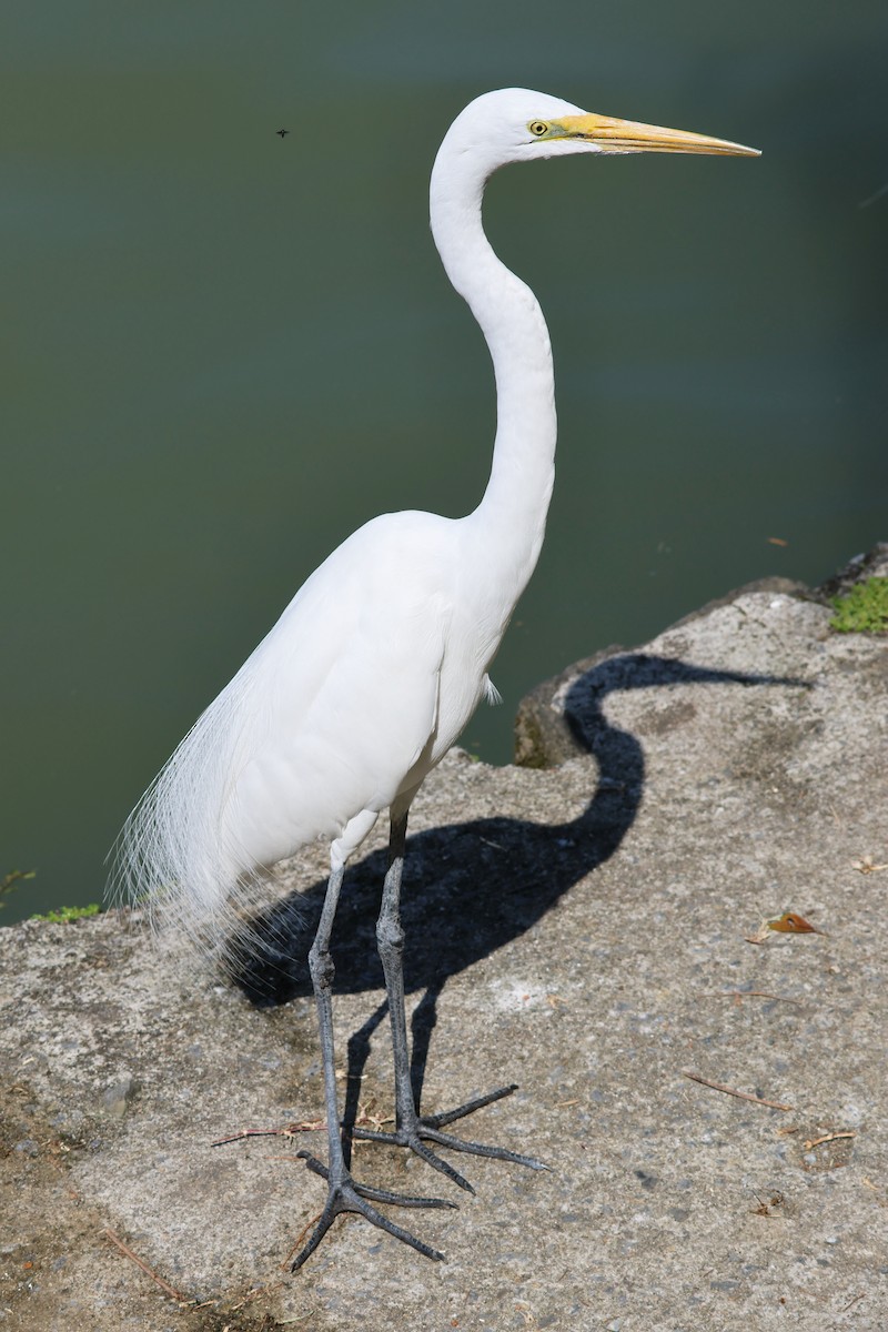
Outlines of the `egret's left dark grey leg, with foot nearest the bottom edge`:
<svg viewBox="0 0 888 1332">
<path fill-rule="evenodd" d="M 439 1197 L 411 1197 L 403 1193 L 390 1193 L 387 1189 L 369 1188 L 366 1184 L 358 1184 L 354 1179 L 351 1179 L 351 1175 L 345 1164 L 342 1138 L 339 1134 L 333 1050 L 332 991 L 334 967 L 333 958 L 330 956 L 330 932 L 333 930 L 333 918 L 339 899 L 343 872 L 343 867 L 339 866 L 330 874 L 326 896 L 324 899 L 324 910 L 321 911 L 321 922 L 309 954 L 309 970 L 312 972 L 312 984 L 314 986 L 314 998 L 318 1007 L 321 1056 L 324 1059 L 324 1098 L 326 1103 L 329 1166 L 324 1166 L 309 1152 L 297 1154 L 304 1158 L 309 1169 L 326 1179 L 329 1185 L 328 1200 L 318 1223 L 312 1232 L 312 1237 L 293 1260 L 293 1265 L 290 1268 L 293 1272 L 302 1267 L 305 1260 L 314 1252 L 339 1212 L 359 1212 L 361 1216 L 366 1217 L 366 1220 L 369 1220 L 373 1225 L 378 1225 L 379 1229 L 386 1231 L 395 1239 L 403 1240 L 405 1244 L 409 1244 L 426 1257 L 442 1259 L 443 1253 L 439 1253 L 438 1249 L 433 1249 L 429 1244 L 423 1244 L 422 1240 L 410 1235 L 410 1232 L 405 1231 L 401 1225 L 395 1225 L 394 1221 L 390 1221 L 387 1216 L 378 1212 L 375 1207 L 370 1205 L 370 1203 L 393 1203 L 399 1207 L 454 1205 L 453 1203 L 447 1203 Z"/>
</svg>

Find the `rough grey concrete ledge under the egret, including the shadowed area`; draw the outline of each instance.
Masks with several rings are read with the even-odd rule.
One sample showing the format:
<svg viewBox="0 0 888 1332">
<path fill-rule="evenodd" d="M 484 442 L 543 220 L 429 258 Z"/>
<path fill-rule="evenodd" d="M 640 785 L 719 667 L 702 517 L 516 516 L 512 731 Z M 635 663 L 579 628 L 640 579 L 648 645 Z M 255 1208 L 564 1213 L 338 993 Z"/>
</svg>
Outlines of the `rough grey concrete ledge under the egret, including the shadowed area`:
<svg viewBox="0 0 888 1332">
<path fill-rule="evenodd" d="M 469 1197 L 357 1146 L 359 1179 L 459 1203 L 409 1213 L 447 1263 L 346 1217 L 290 1277 L 324 1200 L 296 1151 L 322 1132 L 210 1147 L 322 1114 L 302 966 L 245 972 L 257 1008 L 125 915 L 0 931 L 0 1327 L 888 1327 L 888 641 L 828 618 L 797 589 L 743 593 L 537 693 L 576 757 L 454 751 L 421 793 L 423 1106 L 514 1080 L 465 1130 L 551 1166 L 454 1158 Z M 391 1106 L 382 843 L 334 943 L 342 1096 L 365 1122 Z M 285 875 L 300 955 L 322 879 L 322 847 Z M 784 911 L 824 932 L 747 942 Z"/>
</svg>

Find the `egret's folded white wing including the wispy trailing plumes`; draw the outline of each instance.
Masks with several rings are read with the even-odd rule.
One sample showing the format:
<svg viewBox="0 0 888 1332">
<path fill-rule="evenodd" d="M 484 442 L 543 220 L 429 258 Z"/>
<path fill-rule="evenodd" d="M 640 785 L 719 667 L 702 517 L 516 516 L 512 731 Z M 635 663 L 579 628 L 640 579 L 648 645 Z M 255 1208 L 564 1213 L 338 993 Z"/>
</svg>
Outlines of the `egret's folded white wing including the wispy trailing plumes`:
<svg viewBox="0 0 888 1332">
<path fill-rule="evenodd" d="M 417 763 L 425 775 L 453 602 L 446 522 L 377 518 L 308 579 L 128 819 L 121 894 L 221 934 L 253 870 L 385 809 Z"/>
</svg>

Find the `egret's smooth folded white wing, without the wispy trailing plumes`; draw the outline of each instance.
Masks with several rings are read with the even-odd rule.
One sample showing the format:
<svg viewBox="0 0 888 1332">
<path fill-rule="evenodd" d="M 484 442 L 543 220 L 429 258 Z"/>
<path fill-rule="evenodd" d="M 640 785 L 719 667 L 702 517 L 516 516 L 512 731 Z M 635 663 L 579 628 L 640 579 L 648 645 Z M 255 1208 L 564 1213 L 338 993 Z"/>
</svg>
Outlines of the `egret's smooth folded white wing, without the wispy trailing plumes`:
<svg viewBox="0 0 888 1332">
<path fill-rule="evenodd" d="M 430 518 L 375 519 L 334 551 L 244 667 L 249 745 L 222 823 L 252 863 L 386 809 L 434 739 L 450 598 L 407 517 Z"/>
</svg>

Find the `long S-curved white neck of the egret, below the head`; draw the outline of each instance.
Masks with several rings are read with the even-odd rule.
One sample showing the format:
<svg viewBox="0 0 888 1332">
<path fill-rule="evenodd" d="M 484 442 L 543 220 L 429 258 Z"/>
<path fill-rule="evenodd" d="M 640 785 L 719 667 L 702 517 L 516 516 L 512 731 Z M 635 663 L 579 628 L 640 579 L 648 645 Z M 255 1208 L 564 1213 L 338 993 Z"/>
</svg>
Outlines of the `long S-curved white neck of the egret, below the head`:
<svg viewBox="0 0 888 1332">
<path fill-rule="evenodd" d="M 555 382 L 549 330 L 537 297 L 494 254 L 481 221 L 485 177 L 446 152 L 431 173 L 431 232 L 447 277 L 485 336 L 497 378 L 497 440 L 490 481 L 466 519 L 495 541 L 490 559 L 515 581 L 530 578 L 543 542 L 555 478 Z"/>
</svg>

